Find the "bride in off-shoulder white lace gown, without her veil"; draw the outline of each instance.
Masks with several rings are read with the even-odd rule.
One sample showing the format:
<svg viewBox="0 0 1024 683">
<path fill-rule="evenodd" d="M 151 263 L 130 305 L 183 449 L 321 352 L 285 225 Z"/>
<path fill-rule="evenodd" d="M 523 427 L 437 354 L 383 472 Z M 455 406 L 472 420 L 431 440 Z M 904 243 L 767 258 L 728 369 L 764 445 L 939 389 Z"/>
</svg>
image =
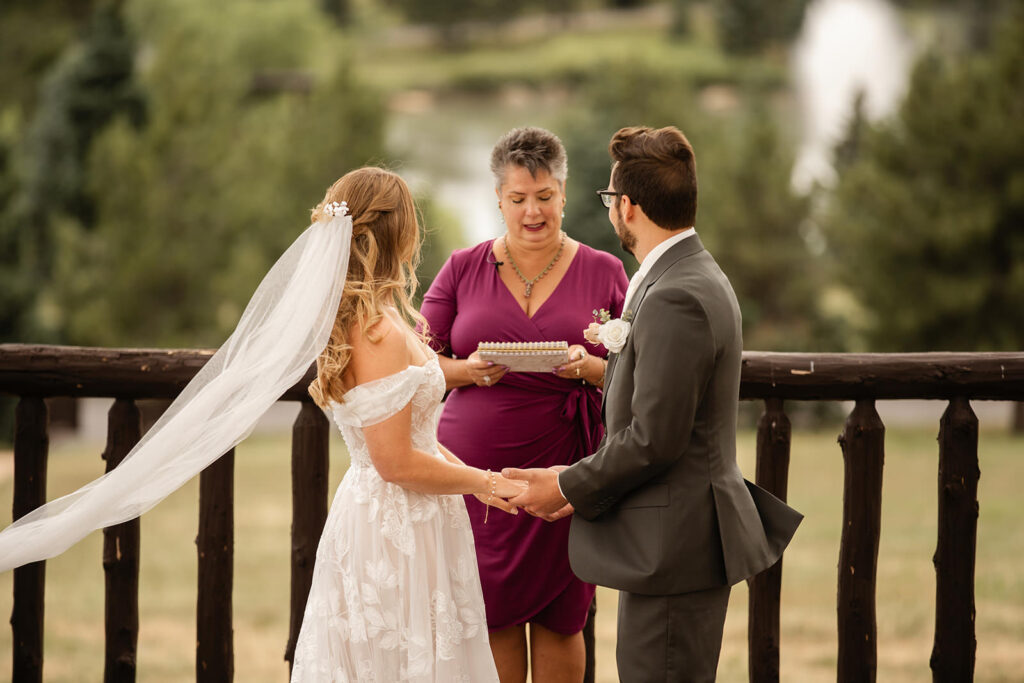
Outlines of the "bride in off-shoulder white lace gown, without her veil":
<svg viewBox="0 0 1024 683">
<path fill-rule="evenodd" d="M 497 681 L 473 535 L 453 494 L 514 513 L 502 499 L 521 489 L 437 443 L 444 376 L 408 324 L 422 318 L 409 301 L 419 234 L 406 183 L 354 171 L 313 215 L 342 202 L 348 278 L 309 392 L 351 464 L 316 551 L 292 681 Z"/>
</svg>

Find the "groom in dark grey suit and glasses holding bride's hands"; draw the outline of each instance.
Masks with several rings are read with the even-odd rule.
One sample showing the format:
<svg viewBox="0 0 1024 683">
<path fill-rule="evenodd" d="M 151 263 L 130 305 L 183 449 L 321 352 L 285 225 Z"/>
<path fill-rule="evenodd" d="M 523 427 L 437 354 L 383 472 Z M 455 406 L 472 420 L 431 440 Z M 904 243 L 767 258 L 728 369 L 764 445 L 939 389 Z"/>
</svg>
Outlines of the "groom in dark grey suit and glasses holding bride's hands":
<svg viewBox="0 0 1024 683">
<path fill-rule="evenodd" d="M 569 560 L 618 589 L 620 680 L 714 681 L 730 586 L 773 565 L 802 515 L 736 466 L 739 306 L 694 229 L 693 150 L 678 129 L 623 128 L 601 198 L 640 262 L 604 384 L 597 453 L 529 482 L 511 502 L 571 514 Z"/>
</svg>

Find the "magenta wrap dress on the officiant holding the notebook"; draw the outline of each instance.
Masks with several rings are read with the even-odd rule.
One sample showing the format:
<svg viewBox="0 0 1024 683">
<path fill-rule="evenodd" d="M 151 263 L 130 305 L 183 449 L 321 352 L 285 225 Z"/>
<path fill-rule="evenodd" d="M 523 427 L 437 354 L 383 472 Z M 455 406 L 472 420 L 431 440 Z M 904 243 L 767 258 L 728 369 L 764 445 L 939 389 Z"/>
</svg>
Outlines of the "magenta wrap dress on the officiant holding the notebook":
<svg viewBox="0 0 1024 683">
<path fill-rule="evenodd" d="M 481 341 L 567 341 L 595 355 L 584 329 L 595 309 L 622 313 L 629 284 L 622 261 L 581 244 L 555 291 L 532 317 L 499 276 L 493 242 L 454 252 L 423 297 L 421 312 L 434 349 L 465 358 Z M 601 394 L 582 380 L 549 373 L 507 373 L 492 387 L 454 389 L 437 437 L 481 469 L 570 465 L 597 450 L 603 435 Z M 480 569 L 487 626 L 498 631 L 532 622 L 572 634 L 583 629 L 594 587 L 569 568 L 569 519 L 546 522 L 520 511 L 492 511 L 466 497 Z"/>
</svg>

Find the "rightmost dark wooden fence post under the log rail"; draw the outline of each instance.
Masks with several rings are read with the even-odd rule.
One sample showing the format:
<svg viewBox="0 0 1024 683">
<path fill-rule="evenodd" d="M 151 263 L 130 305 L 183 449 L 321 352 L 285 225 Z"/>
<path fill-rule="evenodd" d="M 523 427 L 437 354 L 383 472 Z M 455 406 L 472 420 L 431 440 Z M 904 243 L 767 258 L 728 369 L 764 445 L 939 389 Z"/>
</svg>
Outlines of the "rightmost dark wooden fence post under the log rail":
<svg viewBox="0 0 1024 683">
<path fill-rule="evenodd" d="M 978 540 L 978 418 L 953 398 L 939 422 L 939 533 L 935 550 L 932 680 L 973 681 L 974 565 Z"/>
</svg>

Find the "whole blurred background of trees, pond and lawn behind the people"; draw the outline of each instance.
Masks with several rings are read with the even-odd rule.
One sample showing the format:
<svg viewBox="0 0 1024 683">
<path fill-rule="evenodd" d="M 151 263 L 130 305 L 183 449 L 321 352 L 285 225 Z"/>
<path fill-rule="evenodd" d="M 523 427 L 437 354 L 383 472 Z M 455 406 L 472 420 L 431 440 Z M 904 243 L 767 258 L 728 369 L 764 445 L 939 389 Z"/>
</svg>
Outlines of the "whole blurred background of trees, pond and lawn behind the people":
<svg viewBox="0 0 1024 683">
<path fill-rule="evenodd" d="M 746 348 L 1020 350 L 1022 121 L 1016 0 L 5 0 L 0 342 L 217 346 L 324 189 L 364 164 L 413 185 L 426 287 L 452 249 L 500 233 L 488 156 L 518 125 L 562 137 L 566 230 L 632 271 L 593 190 L 610 135 L 643 124 L 679 126 L 694 145 L 697 228 L 736 289 Z M 0 442 L 10 408 L 0 399 Z M 794 439 L 791 500 L 808 524 L 787 554 L 783 680 L 835 678 L 836 418 Z M 899 429 L 880 666 L 886 680 L 927 680 L 934 428 Z M 1022 666 L 1024 546 L 1021 437 L 991 429 L 983 419 L 982 471 L 997 474 L 981 481 L 977 680 L 996 681 Z M 239 508 L 241 680 L 284 673 L 288 492 L 270 470 L 288 459 L 273 438 L 244 444 L 239 466 L 254 492 Z M 752 433 L 740 440 L 752 473 Z M 83 456 L 93 445 L 54 449 L 51 498 L 98 473 Z M 336 481 L 337 443 L 332 458 Z M 180 537 L 143 553 L 145 680 L 191 671 L 189 490 L 143 520 Z M 52 563 L 54 680 L 81 680 L 101 656 L 98 563 L 80 555 L 95 557 L 94 542 Z M 9 599 L 9 574 L 0 589 Z M 745 679 L 743 623 L 730 611 L 723 680 Z"/>
</svg>

